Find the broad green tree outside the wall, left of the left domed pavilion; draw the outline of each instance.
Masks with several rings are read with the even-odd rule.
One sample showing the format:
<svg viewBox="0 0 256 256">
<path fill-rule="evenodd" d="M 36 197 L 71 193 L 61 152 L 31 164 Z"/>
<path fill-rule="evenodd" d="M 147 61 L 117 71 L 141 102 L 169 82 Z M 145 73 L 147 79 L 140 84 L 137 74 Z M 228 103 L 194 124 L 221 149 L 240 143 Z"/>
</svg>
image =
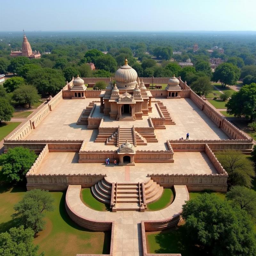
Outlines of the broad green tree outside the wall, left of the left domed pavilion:
<svg viewBox="0 0 256 256">
<path fill-rule="evenodd" d="M 40 94 L 47 95 L 59 92 L 66 84 L 66 79 L 56 69 L 41 68 L 29 71 L 27 82 L 34 85 Z"/>
</svg>

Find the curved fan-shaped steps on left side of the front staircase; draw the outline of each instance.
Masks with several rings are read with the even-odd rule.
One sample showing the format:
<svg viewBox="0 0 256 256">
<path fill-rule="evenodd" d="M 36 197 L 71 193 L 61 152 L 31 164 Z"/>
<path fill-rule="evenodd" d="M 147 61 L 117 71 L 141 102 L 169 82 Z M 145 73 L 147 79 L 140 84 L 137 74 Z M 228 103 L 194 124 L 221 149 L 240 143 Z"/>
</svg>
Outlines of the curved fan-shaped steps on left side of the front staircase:
<svg viewBox="0 0 256 256">
<path fill-rule="evenodd" d="M 92 195 L 104 204 L 110 204 L 112 184 L 102 179 L 92 186 Z"/>
</svg>

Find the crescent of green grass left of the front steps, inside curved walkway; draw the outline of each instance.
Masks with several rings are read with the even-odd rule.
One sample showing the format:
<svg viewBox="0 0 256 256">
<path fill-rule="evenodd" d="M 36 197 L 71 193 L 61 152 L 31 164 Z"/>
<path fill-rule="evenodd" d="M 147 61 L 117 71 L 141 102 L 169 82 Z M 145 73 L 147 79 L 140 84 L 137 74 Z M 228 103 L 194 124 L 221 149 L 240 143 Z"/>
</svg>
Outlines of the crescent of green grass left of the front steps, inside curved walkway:
<svg viewBox="0 0 256 256">
<path fill-rule="evenodd" d="M 85 205 L 92 208 L 93 210 L 106 212 L 110 209 L 108 204 L 103 204 L 98 201 L 94 196 L 92 196 L 90 188 L 83 188 L 81 190 L 81 199 Z"/>
</svg>

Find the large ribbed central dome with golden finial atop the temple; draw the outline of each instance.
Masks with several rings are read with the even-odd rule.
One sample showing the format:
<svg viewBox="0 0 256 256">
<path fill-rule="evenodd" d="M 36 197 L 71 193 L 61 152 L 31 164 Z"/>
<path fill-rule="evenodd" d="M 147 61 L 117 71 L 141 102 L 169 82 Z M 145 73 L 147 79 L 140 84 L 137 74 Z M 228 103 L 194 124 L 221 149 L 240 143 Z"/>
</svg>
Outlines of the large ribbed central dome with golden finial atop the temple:
<svg viewBox="0 0 256 256">
<path fill-rule="evenodd" d="M 125 59 L 124 66 L 118 68 L 115 74 L 117 88 L 134 89 L 137 77 L 137 72 L 128 65 L 128 61 Z"/>
</svg>

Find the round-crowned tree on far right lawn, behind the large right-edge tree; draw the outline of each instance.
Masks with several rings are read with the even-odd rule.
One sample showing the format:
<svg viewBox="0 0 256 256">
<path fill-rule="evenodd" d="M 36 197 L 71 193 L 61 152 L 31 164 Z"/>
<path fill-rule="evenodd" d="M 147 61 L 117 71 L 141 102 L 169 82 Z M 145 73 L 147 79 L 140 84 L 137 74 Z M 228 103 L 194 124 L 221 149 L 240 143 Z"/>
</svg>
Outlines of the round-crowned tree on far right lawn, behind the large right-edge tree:
<svg viewBox="0 0 256 256">
<path fill-rule="evenodd" d="M 236 84 L 236 81 L 239 79 L 240 71 L 239 68 L 234 66 L 231 63 L 221 63 L 214 71 L 212 76 L 212 81 L 221 82 L 222 87 L 226 85 Z"/>
</svg>

